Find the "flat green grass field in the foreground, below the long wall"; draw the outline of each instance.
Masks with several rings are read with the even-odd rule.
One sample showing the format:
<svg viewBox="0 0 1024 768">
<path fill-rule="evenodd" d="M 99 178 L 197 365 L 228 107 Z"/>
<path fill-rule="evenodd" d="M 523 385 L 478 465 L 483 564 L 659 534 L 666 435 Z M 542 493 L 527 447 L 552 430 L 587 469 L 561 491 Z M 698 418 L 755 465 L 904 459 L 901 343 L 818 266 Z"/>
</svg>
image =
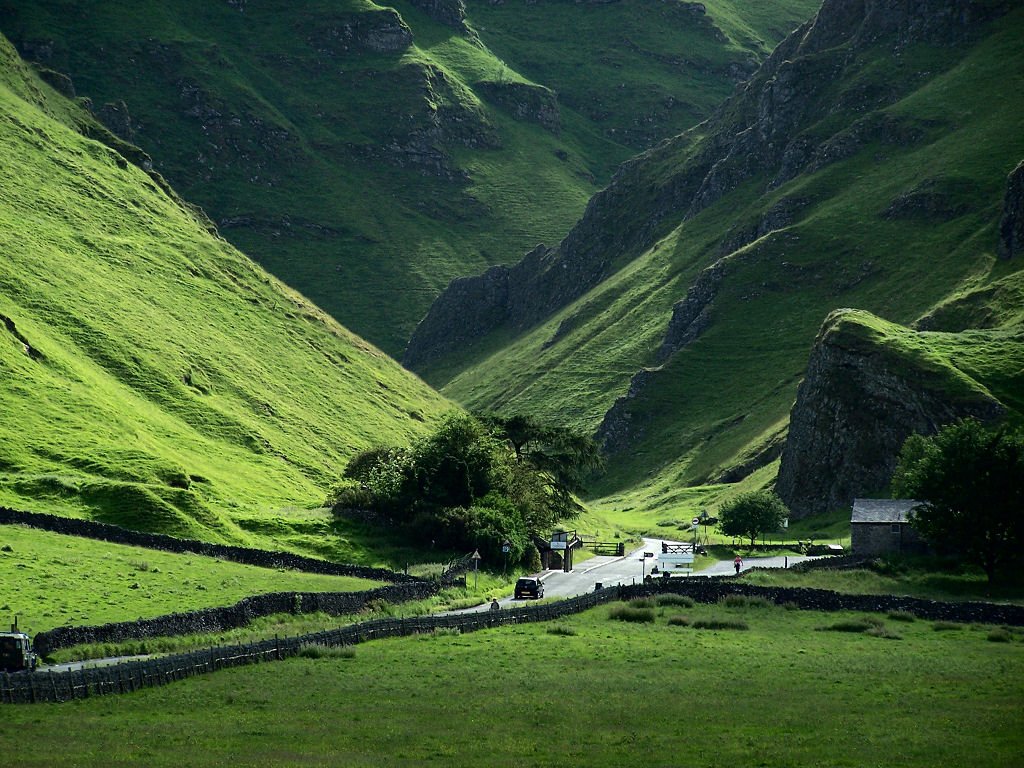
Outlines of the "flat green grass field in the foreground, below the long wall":
<svg viewBox="0 0 1024 768">
<path fill-rule="evenodd" d="M 25 766 L 1019 765 L 1019 631 L 614 607 L 6 708 L 0 750 Z"/>
</svg>

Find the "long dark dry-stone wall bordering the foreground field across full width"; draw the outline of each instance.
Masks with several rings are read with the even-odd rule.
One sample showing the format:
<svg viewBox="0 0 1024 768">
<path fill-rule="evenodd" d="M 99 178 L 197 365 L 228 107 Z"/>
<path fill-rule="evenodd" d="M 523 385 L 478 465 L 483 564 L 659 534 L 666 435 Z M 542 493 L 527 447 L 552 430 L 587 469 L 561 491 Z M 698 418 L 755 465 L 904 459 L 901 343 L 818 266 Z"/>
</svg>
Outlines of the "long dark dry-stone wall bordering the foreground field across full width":
<svg viewBox="0 0 1024 768">
<path fill-rule="evenodd" d="M 1024 606 L 1020 605 L 944 603 L 889 595 L 843 595 L 827 590 L 757 587 L 737 583 L 731 578 L 662 579 L 650 584 L 607 587 L 544 605 L 452 615 L 381 618 L 302 637 L 210 648 L 98 669 L 63 673 L 4 673 L 0 675 L 0 703 L 68 701 L 110 693 L 127 693 L 229 667 L 290 658 L 306 645 L 344 646 L 443 629 L 474 632 L 507 625 L 546 622 L 615 600 L 660 593 L 688 595 L 701 603 L 716 603 L 727 595 L 740 594 L 762 597 L 779 605 L 792 604 L 802 610 L 901 610 L 930 621 L 1024 626 Z"/>
</svg>

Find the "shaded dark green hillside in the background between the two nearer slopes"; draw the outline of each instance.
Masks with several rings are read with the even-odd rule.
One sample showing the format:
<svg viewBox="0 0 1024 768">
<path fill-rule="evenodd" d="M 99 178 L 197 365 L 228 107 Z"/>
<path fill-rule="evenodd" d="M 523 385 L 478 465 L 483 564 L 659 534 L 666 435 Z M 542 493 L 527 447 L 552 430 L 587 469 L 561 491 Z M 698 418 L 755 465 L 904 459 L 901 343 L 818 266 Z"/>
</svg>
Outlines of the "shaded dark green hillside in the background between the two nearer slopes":
<svg viewBox="0 0 1024 768">
<path fill-rule="evenodd" d="M 473 3 L 461 23 L 424 5 L 7 0 L 0 32 L 228 240 L 397 355 L 452 278 L 557 242 L 617 163 L 706 116 L 816 2 Z"/>
</svg>

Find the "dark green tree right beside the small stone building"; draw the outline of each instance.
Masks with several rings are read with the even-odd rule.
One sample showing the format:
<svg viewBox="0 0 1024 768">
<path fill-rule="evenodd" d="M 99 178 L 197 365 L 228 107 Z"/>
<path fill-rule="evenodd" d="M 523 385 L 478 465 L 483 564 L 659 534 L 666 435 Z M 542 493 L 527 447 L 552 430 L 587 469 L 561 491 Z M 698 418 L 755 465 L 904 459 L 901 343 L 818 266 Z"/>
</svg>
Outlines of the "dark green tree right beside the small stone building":
<svg viewBox="0 0 1024 768">
<path fill-rule="evenodd" d="M 1024 433 L 975 419 L 900 452 L 893 495 L 918 499 L 910 523 L 941 552 L 981 566 L 991 584 L 1024 551 Z"/>
</svg>

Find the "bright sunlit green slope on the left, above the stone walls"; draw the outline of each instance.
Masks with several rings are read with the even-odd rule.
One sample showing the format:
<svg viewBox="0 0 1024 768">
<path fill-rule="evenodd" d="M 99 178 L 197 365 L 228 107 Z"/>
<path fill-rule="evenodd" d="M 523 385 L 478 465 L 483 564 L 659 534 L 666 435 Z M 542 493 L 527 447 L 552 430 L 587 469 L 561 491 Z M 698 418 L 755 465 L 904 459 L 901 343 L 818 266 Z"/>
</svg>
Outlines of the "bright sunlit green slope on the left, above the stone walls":
<svg viewBox="0 0 1024 768">
<path fill-rule="evenodd" d="M 450 409 L 77 126 L 0 38 L 0 504 L 244 541 Z"/>
</svg>

